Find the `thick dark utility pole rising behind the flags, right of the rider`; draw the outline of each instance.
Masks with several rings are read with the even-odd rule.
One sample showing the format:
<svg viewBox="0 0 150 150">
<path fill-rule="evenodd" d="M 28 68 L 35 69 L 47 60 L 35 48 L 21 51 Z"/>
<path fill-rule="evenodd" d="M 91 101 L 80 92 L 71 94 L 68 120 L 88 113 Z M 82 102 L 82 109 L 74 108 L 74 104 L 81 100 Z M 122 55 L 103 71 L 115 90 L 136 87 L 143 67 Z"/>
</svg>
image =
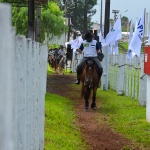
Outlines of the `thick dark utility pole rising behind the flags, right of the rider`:
<svg viewBox="0 0 150 150">
<path fill-rule="evenodd" d="M 110 18 L 110 0 L 105 0 L 105 28 L 104 28 L 104 38 L 109 32 L 109 18 Z"/>
</svg>

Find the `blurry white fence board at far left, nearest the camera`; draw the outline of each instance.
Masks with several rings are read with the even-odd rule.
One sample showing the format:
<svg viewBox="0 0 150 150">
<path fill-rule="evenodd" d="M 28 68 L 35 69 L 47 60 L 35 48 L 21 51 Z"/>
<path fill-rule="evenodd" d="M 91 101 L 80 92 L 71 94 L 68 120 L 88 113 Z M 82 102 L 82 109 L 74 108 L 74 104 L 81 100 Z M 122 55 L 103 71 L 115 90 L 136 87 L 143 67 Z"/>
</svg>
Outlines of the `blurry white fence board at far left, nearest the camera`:
<svg viewBox="0 0 150 150">
<path fill-rule="evenodd" d="M 0 149 L 15 149 L 15 33 L 11 26 L 11 6 L 0 3 Z"/>
</svg>

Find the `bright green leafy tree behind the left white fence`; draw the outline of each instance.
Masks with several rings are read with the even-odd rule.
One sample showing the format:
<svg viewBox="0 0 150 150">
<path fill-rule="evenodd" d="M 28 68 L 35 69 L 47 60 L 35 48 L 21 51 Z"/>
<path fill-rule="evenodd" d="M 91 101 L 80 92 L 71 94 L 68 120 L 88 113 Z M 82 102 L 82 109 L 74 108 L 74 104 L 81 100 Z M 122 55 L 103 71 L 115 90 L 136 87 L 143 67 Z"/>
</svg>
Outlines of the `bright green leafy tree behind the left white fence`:
<svg viewBox="0 0 150 150">
<path fill-rule="evenodd" d="M 59 36 L 67 30 L 64 24 L 64 14 L 56 3 L 48 2 L 48 5 L 43 7 L 41 12 L 41 41 L 44 40 L 45 33 L 48 36 Z M 14 7 L 12 14 L 12 22 L 16 28 L 16 33 L 27 36 L 28 9 L 26 7 Z"/>
</svg>

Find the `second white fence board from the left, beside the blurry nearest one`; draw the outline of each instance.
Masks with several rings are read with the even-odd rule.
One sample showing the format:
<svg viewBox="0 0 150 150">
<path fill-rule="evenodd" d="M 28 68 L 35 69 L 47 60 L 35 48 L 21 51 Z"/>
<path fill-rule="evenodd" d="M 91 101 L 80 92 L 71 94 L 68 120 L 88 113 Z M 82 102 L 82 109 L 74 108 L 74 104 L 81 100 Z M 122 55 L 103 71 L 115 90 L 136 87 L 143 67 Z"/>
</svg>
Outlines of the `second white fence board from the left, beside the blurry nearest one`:
<svg viewBox="0 0 150 150">
<path fill-rule="evenodd" d="M 26 39 L 16 37 L 16 121 L 17 121 L 17 150 L 26 150 L 25 125 L 26 125 Z"/>
</svg>

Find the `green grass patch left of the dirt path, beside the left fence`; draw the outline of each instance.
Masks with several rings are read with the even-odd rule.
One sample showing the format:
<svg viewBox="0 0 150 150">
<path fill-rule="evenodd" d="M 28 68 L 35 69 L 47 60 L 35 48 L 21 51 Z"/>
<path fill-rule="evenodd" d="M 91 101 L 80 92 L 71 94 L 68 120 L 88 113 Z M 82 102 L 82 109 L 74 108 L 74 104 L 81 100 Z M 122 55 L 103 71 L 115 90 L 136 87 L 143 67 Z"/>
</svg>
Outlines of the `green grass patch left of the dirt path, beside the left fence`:
<svg viewBox="0 0 150 150">
<path fill-rule="evenodd" d="M 68 99 L 46 94 L 45 150 L 85 150 L 85 143 L 76 126 L 73 103 Z"/>
</svg>

